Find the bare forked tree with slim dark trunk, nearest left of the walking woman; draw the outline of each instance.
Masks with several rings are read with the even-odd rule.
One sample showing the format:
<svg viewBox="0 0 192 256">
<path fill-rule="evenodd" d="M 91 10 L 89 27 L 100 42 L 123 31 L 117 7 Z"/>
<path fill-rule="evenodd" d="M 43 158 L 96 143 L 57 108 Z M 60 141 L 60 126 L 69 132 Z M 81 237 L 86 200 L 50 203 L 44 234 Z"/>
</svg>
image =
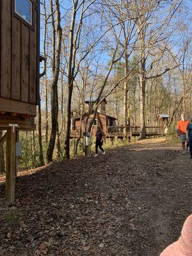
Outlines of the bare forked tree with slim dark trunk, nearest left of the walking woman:
<svg viewBox="0 0 192 256">
<path fill-rule="evenodd" d="M 66 63 L 67 63 L 67 115 L 66 115 L 66 125 L 65 125 L 65 157 L 70 157 L 70 118 L 71 118 L 71 103 L 72 103 L 72 93 L 74 89 L 74 81 L 79 74 L 79 68 L 81 62 L 94 51 L 97 45 L 100 44 L 104 36 L 111 31 L 111 29 L 116 26 L 116 24 L 111 25 L 111 27 L 106 26 L 102 33 L 99 35 L 94 34 L 94 31 L 98 31 L 98 28 L 102 26 L 102 21 L 99 24 L 94 24 L 93 28 L 89 31 L 84 31 L 82 36 L 83 29 L 83 20 L 87 17 L 92 17 L 95 10 L 89 13 L 91 6 L 95 3 L 96 0 L 86 2 L 84 0 L 72 1 L 72 15 L 70 20 L 70 29 L 69 29 L 69 40 L 68 40 L 68 52 L 65 54 Z M 100 18 L 102 20 L 102 18 Z M 91 38 L 91 33 L 93 39 L 88 40 L 88 37 Z"/>
</svg>

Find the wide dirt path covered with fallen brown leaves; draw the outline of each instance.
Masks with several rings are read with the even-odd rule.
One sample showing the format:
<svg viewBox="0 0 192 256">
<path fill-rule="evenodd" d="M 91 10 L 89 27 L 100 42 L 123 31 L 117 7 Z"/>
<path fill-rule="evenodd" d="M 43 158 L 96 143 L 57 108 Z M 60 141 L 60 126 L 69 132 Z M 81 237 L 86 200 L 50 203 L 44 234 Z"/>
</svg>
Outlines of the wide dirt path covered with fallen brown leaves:
<svg viewBox="0 0 192 256">
<path fill-rule="evenodd" d="M 0 255 L 159 256 L 192 212 L 179 149 L 140 141 L 19 177 L 17 202 L 0 210 Z"/>
</svg>

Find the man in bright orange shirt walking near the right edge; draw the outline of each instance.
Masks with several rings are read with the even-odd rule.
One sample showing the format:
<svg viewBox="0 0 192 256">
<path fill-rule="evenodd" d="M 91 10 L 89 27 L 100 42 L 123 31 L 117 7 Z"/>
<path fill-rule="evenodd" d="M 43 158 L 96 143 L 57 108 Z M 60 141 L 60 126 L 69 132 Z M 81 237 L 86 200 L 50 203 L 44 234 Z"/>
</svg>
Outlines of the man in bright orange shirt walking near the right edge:
<svg viewBox="0 0 192 256">
<path fill-rule="evenodd" d="M 181 120 L 177 124 L 177 136 L 179 136 L 182 143 L 182 155 L 186 154 L 186 131 L 189 124 L 189 120 L 186 119 L 185 114 L 181 114 Z M 187 145 L 188 148 L 188 145 Z"/>
</svg>

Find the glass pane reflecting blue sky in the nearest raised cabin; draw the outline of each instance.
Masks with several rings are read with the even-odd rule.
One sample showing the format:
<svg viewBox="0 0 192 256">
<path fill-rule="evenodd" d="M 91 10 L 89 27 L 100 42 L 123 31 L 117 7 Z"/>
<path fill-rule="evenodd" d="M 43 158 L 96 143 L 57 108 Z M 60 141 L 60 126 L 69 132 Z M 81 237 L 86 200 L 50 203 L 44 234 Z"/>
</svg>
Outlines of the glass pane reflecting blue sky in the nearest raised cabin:
<svg viewBox="0 0 192 256">
<path fill-rule="evenodd" d="M 30 0 L 15 0 L 15 13 L 32 25 L 32 2 Z"/>
</svg>

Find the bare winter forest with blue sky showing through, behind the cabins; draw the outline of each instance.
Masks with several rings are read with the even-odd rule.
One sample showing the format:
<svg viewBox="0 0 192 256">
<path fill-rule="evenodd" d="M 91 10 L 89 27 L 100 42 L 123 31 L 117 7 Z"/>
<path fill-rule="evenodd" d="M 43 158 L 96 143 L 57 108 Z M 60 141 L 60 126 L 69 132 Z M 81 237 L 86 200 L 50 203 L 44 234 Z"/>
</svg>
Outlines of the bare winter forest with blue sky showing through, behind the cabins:
<svg viewBox="0 0 192 256">
<path fill-rule="evenodd" d="M 84 133 L 103 100 L 116 125 L 139 126 L 140 138 L 160 114 L 170 116 L 170 134 L 181 113 L 191 115 L 190 1 L 42 0 L 40 6 L 38 129 L 19 134 L 20 168 L 83 154 Z M 84 126 L 78 138 L 70 136 L 74 112 Z"/>
</svg>

